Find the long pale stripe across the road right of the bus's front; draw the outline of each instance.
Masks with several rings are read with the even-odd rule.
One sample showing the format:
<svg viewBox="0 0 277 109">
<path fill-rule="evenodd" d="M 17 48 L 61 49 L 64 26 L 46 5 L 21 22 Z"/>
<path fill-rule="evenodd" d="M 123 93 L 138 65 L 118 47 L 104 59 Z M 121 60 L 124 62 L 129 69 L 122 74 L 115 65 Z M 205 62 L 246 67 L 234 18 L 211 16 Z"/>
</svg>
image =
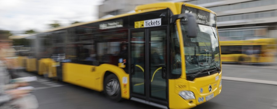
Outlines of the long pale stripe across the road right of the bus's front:
<svg viewBox="0 0 277 109">
<path fill-rule="evenodd" d="M 246 78 L 235 78 L 235 77 L 222 76 L 222 80 L 277 85 L 277 81 L 267 81 L 267 80 L 259 80 L 259 79 L 246 79 Z"/>
</svg>

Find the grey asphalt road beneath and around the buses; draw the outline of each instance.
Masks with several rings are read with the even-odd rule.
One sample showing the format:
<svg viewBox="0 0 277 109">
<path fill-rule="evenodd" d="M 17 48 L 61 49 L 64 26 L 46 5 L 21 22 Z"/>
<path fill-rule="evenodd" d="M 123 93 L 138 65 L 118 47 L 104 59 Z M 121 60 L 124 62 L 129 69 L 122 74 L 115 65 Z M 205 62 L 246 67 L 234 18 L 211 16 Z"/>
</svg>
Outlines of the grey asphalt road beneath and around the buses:
<svg viewBox="0 0 277 109">
<path fill-rule="evenodd" d="M 250 67 L 249 67 L 250 66 Z M 276 66 L 223 64 L 223 76 L 277 81 Z M 22 77 L 30 73 L 18 73 Z M 220 95 L 193 109 L 277 109 L 277 86 L 237 81 L 222 81 Z M 146 104 L 109 100 L 100 92 L 68 83 L 38 77 L 36 87 L 38 109 L 157 109 Z"/>
</svg>

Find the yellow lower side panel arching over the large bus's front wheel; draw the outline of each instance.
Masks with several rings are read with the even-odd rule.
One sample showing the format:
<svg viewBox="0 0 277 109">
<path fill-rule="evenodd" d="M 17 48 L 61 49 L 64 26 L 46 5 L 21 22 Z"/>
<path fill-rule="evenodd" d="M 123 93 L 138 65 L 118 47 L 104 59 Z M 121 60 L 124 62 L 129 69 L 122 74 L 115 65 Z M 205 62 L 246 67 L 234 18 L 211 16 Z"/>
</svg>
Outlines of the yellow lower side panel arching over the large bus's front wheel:
<svg viewBox="0 0 277 109">
<path fill-rule="evenodd" d="M 101 64 L 100 66 L 90 66 L 76 63 L 63 64 L 63 81 L 93 89 L 103 91 L 103 81 L 105 73 L 109 71 L 114 73 L 120 82 L 122 98 L 129 99 L 129 83 L 123 84 L 122 78 L 129 77 L 122 68 L 110 64 Z M 78 72 L 78 73 L 76 73 Z M 129 79 L 128 79 L 129 81 Z"/>
</svg>

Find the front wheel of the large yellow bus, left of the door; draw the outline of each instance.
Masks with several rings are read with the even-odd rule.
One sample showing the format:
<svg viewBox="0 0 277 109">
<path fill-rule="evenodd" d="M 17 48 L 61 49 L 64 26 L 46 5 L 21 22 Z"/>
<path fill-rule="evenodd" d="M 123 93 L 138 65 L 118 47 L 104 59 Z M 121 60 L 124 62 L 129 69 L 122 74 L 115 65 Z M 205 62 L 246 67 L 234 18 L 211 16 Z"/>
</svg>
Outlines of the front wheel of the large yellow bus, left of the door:
<svg viewBox="0 0 277 109">
<path fill-rule="evenodd" d="M 111 74 L 105 78 L 104 92 L 105 92 L 105 95 L 112 100 L 115 100 L 115 101 L 121 100 L 120 84 L 116 75 Z"/>
</svg>

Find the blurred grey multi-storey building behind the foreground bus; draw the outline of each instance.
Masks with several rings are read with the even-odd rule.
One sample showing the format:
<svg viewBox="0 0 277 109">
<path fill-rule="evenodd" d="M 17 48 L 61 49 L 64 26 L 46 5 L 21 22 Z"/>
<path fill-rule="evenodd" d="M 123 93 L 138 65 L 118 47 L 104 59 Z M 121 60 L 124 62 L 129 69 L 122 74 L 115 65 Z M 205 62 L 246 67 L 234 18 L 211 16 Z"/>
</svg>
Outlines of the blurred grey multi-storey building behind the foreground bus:
<svg viewBox="0 0 277 109">
<path fill-rule="evenodd" d="M 154 2 L 187 2 L 216 12 L 221 41 L 277 38 L 277 0 L 106 0 L 99 6 L 99 18 Z"/>
</svg>

